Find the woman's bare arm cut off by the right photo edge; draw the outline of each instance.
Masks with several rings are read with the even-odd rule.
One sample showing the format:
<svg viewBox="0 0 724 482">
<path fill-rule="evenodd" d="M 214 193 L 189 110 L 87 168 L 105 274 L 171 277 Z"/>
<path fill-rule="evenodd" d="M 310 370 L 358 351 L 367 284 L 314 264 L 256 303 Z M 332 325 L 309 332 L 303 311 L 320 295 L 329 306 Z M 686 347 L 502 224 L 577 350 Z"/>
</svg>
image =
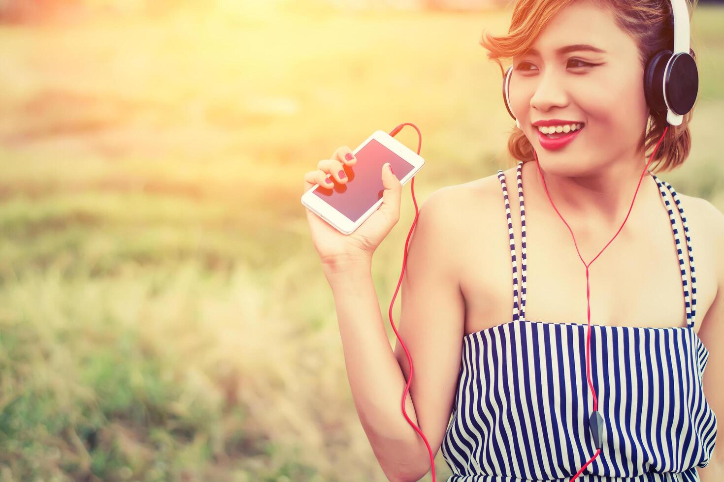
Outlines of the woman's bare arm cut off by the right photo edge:
<svg viewBox="0 0 724 482">
<path fill-rule="evenodd" d="M 707 231 L 711 230 L 710 236 L 715 240 L 717 268 L 717 294 L 698 332 L 699 339 L 709 350 L 702 382 L 707 403 L 714 410 L 715 416 L 721 416 L 724 415 L 724 391 L 721 390 L 724 386 L 724 256 L 720 254 L 719 248 L 724 246 L 724 214 L 707 200 L 701 201 L 702 220 L 706 223 L 702 223 L 702 227 Z M 707 473 L 717 470 L 717 475 L 724 475 L 724 449 L 715 449 L 710 465 L 699 470 Z"/>
</svg>

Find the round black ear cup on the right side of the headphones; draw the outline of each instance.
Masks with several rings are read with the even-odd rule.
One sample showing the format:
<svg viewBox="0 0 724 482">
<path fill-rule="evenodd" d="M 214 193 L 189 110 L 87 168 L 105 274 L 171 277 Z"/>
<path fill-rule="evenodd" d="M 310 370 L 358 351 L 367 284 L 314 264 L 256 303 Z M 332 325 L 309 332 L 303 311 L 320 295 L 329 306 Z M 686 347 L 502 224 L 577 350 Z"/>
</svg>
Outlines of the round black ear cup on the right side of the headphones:
<svg viewBox="0 0 724 482">
<path fill-rule="evenodd" d="M 693 53 L 693 51 L 692 51 Z M 670 108 L 680 116 L 691 111 L 699 92 L 699 71 L 686 52 L 654 53 L 644 69 L 644 95 L 654 112 Z"/>
</svg>

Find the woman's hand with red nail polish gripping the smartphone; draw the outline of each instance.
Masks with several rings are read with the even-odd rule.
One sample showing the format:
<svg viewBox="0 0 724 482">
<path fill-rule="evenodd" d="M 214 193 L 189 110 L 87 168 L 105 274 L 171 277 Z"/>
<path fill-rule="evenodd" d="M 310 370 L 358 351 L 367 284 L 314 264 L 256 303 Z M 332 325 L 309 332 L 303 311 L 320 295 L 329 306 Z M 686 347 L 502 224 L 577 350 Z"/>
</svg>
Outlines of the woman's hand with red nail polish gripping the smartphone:
<svg viewBox="0 0 724 482">
<path fill-rule="evenodd" d="M 348 172 L 351 171 L 350 168 L 357 162 L 357 158 L 349 147 L 339 147 L 334 151 L 331 159 L 320 160 L 315 171 L 305 174 L 305 193 L 311 192 L 315 186 L 326 189 L 344 186 L 350 180 L 348 175 Z M 340 232 L 305 205 L 314 248 L 319 253 L 323 264 L 332 266 L 340 264 L 340 262 L 354 263 L 370 259 L 374 250 L 400 219 L 402 184 L 390 171 L 388 163 L 382 165 L 378 175 L 384 186 L 382 205 L 350 234 Z"/>
</svg>

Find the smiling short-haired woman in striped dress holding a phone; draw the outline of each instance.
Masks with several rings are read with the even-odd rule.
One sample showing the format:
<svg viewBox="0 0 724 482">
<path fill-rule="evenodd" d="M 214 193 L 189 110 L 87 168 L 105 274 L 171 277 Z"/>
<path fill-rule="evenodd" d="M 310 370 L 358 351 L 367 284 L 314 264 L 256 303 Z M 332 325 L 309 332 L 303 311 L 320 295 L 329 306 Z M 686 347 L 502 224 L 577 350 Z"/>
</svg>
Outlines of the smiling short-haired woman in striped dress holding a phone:
<svg viewBox="0 0 724 482">
<path fill-rule="evenodd" d="M 563 482 L 592 458 L 581 261 L 599 253 L 591 370 L 605 429 L 577 480 L 724 480 L 724 450 L 714 452 L 724 356 L 707 350 L 724 340 L 724 215 L 651 171 L 639 185 L 665 127 L 665 112 L 647 106 L 644 65 L 671 48 L 670 22 L 668 0 L 519 0 L 510 35 L 481 41 L 490 58 L 513 59 L 521 129 L 508 147 L 520 162 L 424 202 L 398 323 L 415 363 L 405 410 L 433 452 L 442 448 L 449 481 Z M 570 44 L 596 50 L 557 52 Z M 549 150 L 538 125 L 551 119 L 581 132 Z M 690 119 L 657 148 L 664 170 L 689 154 Z M 348 154 L 322 160 L 305 189 L 331 186 L 327 174 L 345 183 Z M 399 345 L 390 350 L 371 277 L 374 249 L 399 218 L 401 186 L 381 176 L 384 204 L 350 236 L 307 215 L 363 428 L 387 477 L 416 481 L 429 455 L 400 410 L 409 366 Z"/>
</svg>

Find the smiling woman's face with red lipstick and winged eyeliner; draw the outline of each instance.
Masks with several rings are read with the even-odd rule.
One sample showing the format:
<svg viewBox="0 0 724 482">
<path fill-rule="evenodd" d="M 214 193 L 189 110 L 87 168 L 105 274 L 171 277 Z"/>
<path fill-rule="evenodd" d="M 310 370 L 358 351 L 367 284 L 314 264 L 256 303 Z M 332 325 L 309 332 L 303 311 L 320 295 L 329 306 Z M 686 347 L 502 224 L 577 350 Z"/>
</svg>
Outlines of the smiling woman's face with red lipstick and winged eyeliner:
<svg viewBox="0 0 724 482">
<path fill-rule="evenodd" d="M 600 51 L 557 51 L 573 44 Z M 513 113 L 542 169 L 577 176 L 611 163 L 635 163 L 649 114 L 643 77 L 636 43 L 615 24 L 612 12 L 587 0 L 561 10 L 531 50 L 513 58 L 510 79 Z M 571 142 L 552 150 L 533 125 L 550 119 L 583 126 Z"/>
</svg>

